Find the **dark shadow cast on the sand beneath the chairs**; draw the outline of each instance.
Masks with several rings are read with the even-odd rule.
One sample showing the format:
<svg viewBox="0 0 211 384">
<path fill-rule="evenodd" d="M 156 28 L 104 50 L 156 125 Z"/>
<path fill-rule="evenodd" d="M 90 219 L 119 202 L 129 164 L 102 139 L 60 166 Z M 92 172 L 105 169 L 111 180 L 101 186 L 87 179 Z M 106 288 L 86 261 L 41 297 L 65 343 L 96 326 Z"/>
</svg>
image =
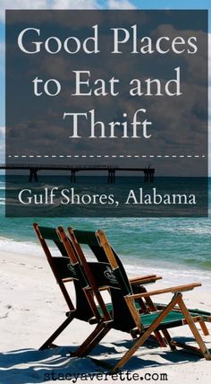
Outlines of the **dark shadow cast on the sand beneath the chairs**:
<svg viewBox="0 0 211 384">
<path fill-rule="evenodd" d="M 182 337 L 183 342 L 190 341 L 189 337 Z M 114 365 L 121 358 L 122 353 L 131 346 L 129 340 L 121 340 L 119 342 L 105 343 L 97 345 L 90 353 L 90 356 L 103 359 L 104 362 Z M 141 347 L 135 356 L 124 366 L 124 370 L 137 371 L 144 368 L 167 367 L 173 363 L 189 363 L 197 362 L 200 357 L 185 353 L 183 351 L 171 351 L 160 348 L 155 350 L 157 345 L 148 343 Z M 45 351 L 34 349 L 20 349 L 0 353 L 0 377 L 1 384 L 27 384 L 27 383 L 43 383 L 51 377 L 52 372 L 55 375 L 59 373 L 75 374 L 75 373 L 96 373 L 105 372 L 106 369 L 98 366 L 89 356 L 83 359 L 70 358 L 68 353 L 74 351 L 75 346 L 63 346 Z M 148 354 L 148 359 L 145 356 Z M 157 354 L 162 356 L 162 362 L 156 362 Z"/>
</svg>

